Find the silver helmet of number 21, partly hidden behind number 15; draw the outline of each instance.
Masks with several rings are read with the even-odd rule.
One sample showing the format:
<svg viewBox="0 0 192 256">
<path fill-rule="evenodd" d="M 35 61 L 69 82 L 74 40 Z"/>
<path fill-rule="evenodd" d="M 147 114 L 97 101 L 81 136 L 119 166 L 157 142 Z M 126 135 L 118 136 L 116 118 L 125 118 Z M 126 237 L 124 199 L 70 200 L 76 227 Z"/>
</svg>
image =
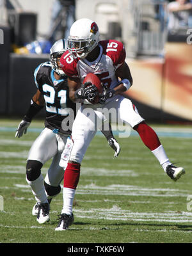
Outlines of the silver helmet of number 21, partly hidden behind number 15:
<svg viewBox="0 0 192 256">
<path fill-rule="evenodd" d="M 52 45 L 50 53 L 50 60 L 52 64 L 52 69 L 59 75 L 59 76 L 66 76 L 63 70 L 58 66 L 58 58 L 61 58 L 61 55 L 67 51 L 67 40 L 60 39 Z"/>
</svg>

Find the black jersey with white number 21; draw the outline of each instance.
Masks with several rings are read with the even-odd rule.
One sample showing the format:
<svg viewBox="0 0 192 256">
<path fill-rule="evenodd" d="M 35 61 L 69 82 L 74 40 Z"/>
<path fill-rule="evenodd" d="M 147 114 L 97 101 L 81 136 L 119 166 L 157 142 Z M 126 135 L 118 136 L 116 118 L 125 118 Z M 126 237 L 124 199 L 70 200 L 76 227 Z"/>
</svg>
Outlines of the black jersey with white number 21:
<svg viewBox="0 0 192 256">
<path fill-rule="evenodd" d="M 49 61 L 36 67 L 34 76 L 36 87 L 44 95 L 46 103 L 45 127 L 56 133 L 70 134 L 72 127 L 64 122 L 66 118 L 66 123 L 69 123 L 69 115 L 71 116 L 70 123 L 71 120 L 74 120 L 76 103 L 69 99 L 67 76 L 56 80 Z"/>
</svg>

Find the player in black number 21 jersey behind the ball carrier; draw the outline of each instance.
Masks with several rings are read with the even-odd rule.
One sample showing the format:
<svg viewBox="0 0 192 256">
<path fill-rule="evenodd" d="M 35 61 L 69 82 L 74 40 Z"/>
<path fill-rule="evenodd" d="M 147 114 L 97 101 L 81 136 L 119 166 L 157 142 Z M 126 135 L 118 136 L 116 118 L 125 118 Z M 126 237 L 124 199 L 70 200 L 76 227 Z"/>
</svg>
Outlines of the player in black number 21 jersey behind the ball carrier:
<svg viewBox="0 0 192 256">
<path fill-rule="evenodd" d="M 33 117 L 46 107 L 45 128 L 31 146 L 26 164 L 26 181 L 36 199 L 32 214 L 37 216 L 38 223 L 49 221 L 49 204 L 52 197 L 60 193 L 63 180 L 64 171 L 59 164 L 61 153 L 65 146 L 72 143 L 71 129 L 62 129 L 65 118 L 68 120 L 68 116 L 71 116 L 73 121 L 76 115 L 76 104 L 68 96 L 67 76 L 60 68 L 60 57 L 65 51 L 67 40 L 58 40 L 51 47 L 51 61 L 36 67 L 34 76 L 37 91 L 15 134 L 17 138 L 26 134 Z M 102 133 L 115 150 L 115 157 L 118 156 L 120 146 L 113 137 L 110 125 L 109 131 Z M 52 163 L 44 179 L 41 168 L 51 158 Z"/>
</svg>

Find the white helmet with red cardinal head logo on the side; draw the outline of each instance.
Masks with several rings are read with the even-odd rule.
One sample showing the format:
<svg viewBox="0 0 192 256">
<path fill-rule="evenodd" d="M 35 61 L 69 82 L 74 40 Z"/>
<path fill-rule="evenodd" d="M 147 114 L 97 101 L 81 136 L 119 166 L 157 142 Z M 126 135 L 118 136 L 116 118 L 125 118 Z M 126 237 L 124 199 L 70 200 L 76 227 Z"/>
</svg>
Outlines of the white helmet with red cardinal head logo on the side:
<svg viewBox="0 0 192 256">
<path fill-rule="evenodd" d="M 99 28 L 90 19 L 79 19 L 72 24 L 68 36 L 68 50 L 74 58 L 84 59 L 99 43 Z"/>
</svg>

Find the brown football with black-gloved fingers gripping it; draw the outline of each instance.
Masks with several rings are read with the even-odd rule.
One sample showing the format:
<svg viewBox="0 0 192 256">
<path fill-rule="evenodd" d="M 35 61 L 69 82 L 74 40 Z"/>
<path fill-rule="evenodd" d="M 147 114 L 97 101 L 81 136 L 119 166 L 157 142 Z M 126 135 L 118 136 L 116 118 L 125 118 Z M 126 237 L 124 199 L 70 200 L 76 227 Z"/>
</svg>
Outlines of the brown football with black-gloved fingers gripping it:
<svg viewBox="0 0 192 256">
<path fill-rule="evenodd" d="M 88 90 L 88 97 L 86 99 L 92 103 L 99 103 L 99 93 L 102 93 L 103 87 L 98 76 L 89 73 L 83 80 L 84 90 Z"/>
</svg>

